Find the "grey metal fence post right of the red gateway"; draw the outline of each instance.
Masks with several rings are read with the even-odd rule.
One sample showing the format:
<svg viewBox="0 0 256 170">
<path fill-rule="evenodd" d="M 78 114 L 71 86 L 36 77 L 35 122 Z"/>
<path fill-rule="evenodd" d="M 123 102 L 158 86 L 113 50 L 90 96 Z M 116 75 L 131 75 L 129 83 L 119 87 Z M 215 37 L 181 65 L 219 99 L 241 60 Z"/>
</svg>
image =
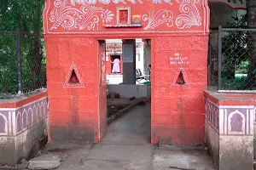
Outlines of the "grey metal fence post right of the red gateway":
<svg viewBox="0 0 256 170">
<path fill-rule="evenodd" d="M 218 26 L 218 90 L 221 90 L 222 26 Z"/>
</svg>

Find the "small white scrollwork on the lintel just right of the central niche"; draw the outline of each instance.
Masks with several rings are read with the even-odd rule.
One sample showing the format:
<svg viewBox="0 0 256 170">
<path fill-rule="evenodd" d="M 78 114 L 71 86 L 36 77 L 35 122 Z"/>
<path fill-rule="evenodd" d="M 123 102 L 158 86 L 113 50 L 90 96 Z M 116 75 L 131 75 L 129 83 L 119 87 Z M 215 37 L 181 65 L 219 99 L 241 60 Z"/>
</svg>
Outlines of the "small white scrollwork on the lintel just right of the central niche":
<svg viewBox="0 0 256 170">
<path fill-rule="evenodd" d="M 144 27 L 144 30 L 153 29 L 166 24 L 168 27 L 173 26 L 173 13 L 170 10 L 160 9 L 156 13 L 154 11 L 143 15 L 143 20 L 148 21 L 148 25 Z"/>
</svg>

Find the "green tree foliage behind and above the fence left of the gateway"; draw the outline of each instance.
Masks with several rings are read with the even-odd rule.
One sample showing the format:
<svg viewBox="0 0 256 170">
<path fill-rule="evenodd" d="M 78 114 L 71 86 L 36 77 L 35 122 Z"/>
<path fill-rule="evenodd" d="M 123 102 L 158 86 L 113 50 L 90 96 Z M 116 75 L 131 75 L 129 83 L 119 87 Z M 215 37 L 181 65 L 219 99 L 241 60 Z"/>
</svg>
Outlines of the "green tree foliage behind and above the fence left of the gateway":
<svg viewBox="0 0 256 170">
<path fill-rule="evenodd" d="M 20 35 L 22 76 L 24 77 L 24 84 L 29 84 L 29 88 L 39 88 L 42 85 L 40 77 L 44 75 L 42 65 L 44 60 L 43 42 L 42 37 L 39 36 L 43 31 L 43 8 L 44 0 L 0 0 L 0 31 L 15 31 L 19 28 L 20 31 L 38 35 Z M 3 32 L 0 34 L 0 80 L 2 80 L 2 82 L 0 81 L 0 93 L 1 89 L 6 91 L 4 82 L 9 82 L 7 84 L 10 92 L 16 91 L 15 38 L 15 35 L 3 34 Z M 29 78 L 31 78 L 31 81 L 27 81 Z M 14 86 L 14 88 L 11 88 L 11 86 Z M 25 86 L 25 88 L 28 87 Z"/>
</svg>

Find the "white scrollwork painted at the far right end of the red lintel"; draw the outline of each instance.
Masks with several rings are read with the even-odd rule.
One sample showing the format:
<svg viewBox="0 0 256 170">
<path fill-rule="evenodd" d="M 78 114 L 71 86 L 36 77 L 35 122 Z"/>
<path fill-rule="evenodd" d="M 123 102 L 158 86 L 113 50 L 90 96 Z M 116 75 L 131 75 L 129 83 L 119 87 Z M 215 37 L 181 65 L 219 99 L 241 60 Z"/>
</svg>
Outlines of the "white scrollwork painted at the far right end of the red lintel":
<svg viewBox="0 0 256 170">
<path fill-rule="evenodd" d="M 180 3 L 179 10 L 182 14 L 177 16 L 176 26 L 178 29 L 201 26 L 201 17 L 196 4 L 201 0 L 176 0 Z"/>
</svg>

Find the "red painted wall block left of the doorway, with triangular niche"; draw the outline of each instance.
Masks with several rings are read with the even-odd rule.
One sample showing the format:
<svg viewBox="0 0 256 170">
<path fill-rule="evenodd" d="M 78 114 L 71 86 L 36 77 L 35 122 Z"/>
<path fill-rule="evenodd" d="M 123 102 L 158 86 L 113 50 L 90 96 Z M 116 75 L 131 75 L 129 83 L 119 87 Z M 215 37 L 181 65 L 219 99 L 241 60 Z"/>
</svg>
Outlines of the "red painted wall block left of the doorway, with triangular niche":
<svg viewBox="0 0 256 170">
<path fill-rule="evenodd" d="M 49 137 L 52 141 L 95 141 L 98 123 L 95 114 L 98 111 L 98 62 L 97 54 L 94 54 L 94 38 L 44 38 Z"/>
</svg>

